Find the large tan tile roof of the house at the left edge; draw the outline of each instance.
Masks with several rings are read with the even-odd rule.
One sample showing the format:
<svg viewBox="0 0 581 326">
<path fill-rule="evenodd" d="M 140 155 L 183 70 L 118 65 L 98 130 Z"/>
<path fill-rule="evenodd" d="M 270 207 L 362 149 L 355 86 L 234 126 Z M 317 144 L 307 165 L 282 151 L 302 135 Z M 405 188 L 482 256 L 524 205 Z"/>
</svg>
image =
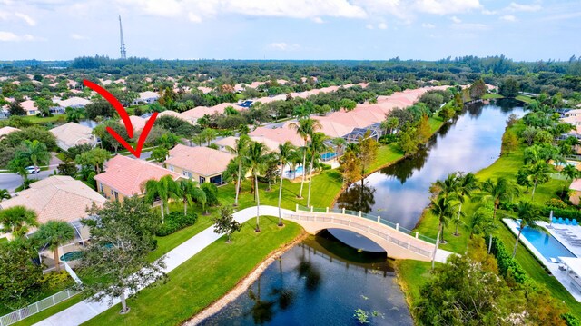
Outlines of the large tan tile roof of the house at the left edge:
<svg viewBox="0 0 581 326">
<path fill-rule="evenodd" d="M 54 175 L 31 183 L 17 196 L 0 203 L 0 208 L 22 205 L 38 214 L 38 222 L 73 222 L 87 216 L 93 203 L 101 206 L 105 198 L 83 182 L 70 176 Z"/>
</svg>

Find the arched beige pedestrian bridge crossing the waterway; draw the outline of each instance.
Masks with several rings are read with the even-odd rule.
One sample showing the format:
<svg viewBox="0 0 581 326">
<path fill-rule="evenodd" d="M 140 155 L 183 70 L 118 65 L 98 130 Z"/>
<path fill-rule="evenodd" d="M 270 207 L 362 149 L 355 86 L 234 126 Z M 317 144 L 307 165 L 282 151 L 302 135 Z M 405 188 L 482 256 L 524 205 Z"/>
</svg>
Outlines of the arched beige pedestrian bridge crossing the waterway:
<svg viewBox="0 0 581 326">
<path fill-rule="evenodd" d="M 283 212 L 282 218 L 300 224 L 310 234 L 316 234 L 325 229 L 342 229 L 359 233 L 376 242 L 388 252 L 389 257 L 395 259 L 428 262 L 431 261 L 436 249 L 435 239 L 402 228 L 398 223 L 363 212 L 297 205 L 295 212 Z M 446 262 L 451 253 L 438 249 L 436 261 Z"/>
</svg>

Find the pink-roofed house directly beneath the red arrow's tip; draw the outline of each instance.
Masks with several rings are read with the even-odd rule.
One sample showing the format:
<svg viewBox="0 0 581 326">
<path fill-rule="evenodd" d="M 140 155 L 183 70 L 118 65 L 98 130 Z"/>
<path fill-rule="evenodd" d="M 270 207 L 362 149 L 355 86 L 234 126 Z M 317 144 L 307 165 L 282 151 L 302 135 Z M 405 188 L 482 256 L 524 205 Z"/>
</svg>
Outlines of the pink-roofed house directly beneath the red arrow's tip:
<svg viewBox="0 0 581 326">
<path fill-rule="evenodd" d="M 105 163 L 105 172 L 95 175 L 99 193 L 108 199 L 123 201 L 124 197 L 143 195 L 143 185 L 148 180 L 159 180 L 171 175 L 173 180 L 180 174 L 143 160 L 117 155 Z"/>
</svg>

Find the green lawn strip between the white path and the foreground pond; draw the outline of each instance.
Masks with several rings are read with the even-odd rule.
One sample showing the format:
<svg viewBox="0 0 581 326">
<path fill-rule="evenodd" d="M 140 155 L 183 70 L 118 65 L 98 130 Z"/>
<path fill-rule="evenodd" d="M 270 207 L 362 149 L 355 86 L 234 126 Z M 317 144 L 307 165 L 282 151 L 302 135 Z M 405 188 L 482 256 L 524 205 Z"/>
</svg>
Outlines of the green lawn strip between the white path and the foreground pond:
<svg viewBox="0 0 581 326">
<path fill-rule="evenodd" d="M 120 315 L 117 305 L 84 324 L 173 325 L 186 321 L 221 298 L 271 252 L 301 232 L 293 222 L 286 222 L 283 228 L 276 224 L 277 218 L 262 217 L 262 232 L 256 233 L 253 221 L 244 223 L 241 232 L 232 236 L 232 243 L 225 243 L 222 237 L 170 272 L 168 282 L 146 288 L 129 299 L 128 314 Z"/>
</svg>

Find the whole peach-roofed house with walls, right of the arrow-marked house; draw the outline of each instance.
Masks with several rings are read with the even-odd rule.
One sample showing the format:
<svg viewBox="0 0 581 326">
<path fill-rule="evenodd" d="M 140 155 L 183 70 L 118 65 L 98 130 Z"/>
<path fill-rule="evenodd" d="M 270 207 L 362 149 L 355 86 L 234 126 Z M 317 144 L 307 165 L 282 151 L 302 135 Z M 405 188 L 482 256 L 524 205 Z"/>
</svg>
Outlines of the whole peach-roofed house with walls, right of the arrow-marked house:
<svg viewBox="0 0 581 326">
<path fill-rule="evenodd" d="M 178 144 L 165 160 L 167 168 L 199 183 L 222 184 L 222 173 L 234 155 L 208 147 L 188 147 Z"/>
</svg>

